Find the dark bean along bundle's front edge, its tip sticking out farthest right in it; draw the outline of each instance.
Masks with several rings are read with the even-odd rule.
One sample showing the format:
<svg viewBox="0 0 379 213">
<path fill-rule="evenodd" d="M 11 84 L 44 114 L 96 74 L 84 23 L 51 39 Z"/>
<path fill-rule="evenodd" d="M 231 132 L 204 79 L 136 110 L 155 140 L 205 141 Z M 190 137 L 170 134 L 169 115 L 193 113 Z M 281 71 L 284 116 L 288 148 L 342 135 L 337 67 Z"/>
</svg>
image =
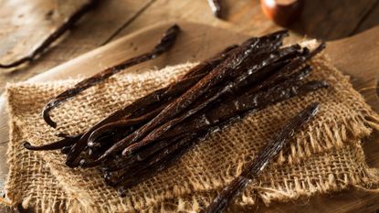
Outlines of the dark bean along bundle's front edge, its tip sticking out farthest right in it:
<svg viewBox="0 0 379 213">
<path fill-rule="evenodd" d="M 229 101 L 226 104 L 220 105 L 218 108 L 215 109 L 206 109 L 205 112 L 209 112 L 208 115 L 200 114 L 202 118 L 205 118 L 204 120 L 196 120 L 195 118 L 192 121 L 193 124 L 188 124 L 188 122 L 181 123 L 179 125 L 182 130 L 184 130 L 182 133 L 173 133 L 175 130 L 168 132 L 163 135 L 163 138 L 160 138 L 160 142 L 157 142 L 150 147 L 142 150 L 140 153 L 133 154 L 132 157 L 128 157 L 125 159 L 124 163 L 121 163 L 120 166 L 115 169 L 114 167 L 112 170 L 118 170 L 121 169 L 122 165 L 128 164 L 128 163 L 135 163 L 137 161 L 143 161 L 149 157 L 153 157 L 154 154 L 156 154 L 159 150 L 161 154 L 157 154 L 162 157 L 162 154 L 167 155 L 173 153 L 173 150 L 168 151 L 165 149 L 168 144 L 172 144 L 173 142 L 170 140 L 170 138 L 174 137 L 188 137 L 186 133 L 211 133 L 214 128 L 216 128 L 215 125 L 220 126 L 223 123 L 227 123 L 228 120 L 235 117 L 236 115 L 240 114 L 241 112 L 245 112 L 247 110 L 253 110 L 254 112 L 263 109 L 267 107 L 270 104 L 284 101 L 287 99 L 290 99 L 293 96 L 296 95 L 305 95 L 306 93 L 309 93 L 311 91 L 316 91 L 321 88 L 325 88 L 328 85 L 325 84 L 322 81 L 310 81 L 305 84 L 295 86 L 291 85 L 290 83 L 284 82 L 283 85 L 278 85 L 276 88 L 269 90 L 268 92 L 262 91 L 256 95 L 247 95 L 245 97 L 245 100 L 241 100 L 244 102 L 239 102 L 238 105 L 241 105 L 245 107 L 244 109 L 241 107 L 235 107 L 235 101 Z M 283 94 L 284 93 L 284 94 Z M 238 101 L 238 100 L 237 100 Z M 234 109 L 230 110 L 230 109 Z M 223 111 L 224 110 L 224 111 Z M 226 111 L 225 111 L 226 110 Z M 199 116 L 197 116 L 199 117 Z M 202 123 L 202 124 L 200 124 Z M 195 127 L 195 128 L 192 128 Z M 171 136 L 167 134 L 172 134 Z M 177 139 L 175 139 L 177 140 Z M 184 144 L 178 144 L 176 146 L 177 149 L 181 148 Z M 164 149 L 164 150 L 163 150 Z M 154 158 L 153 158 L 154 159 Z M 148 164 L 146 162 L 143 162 L 143 164 Z M 126 171 L 125 173 L 131 173 L 132 171 Z"/>
</svg>

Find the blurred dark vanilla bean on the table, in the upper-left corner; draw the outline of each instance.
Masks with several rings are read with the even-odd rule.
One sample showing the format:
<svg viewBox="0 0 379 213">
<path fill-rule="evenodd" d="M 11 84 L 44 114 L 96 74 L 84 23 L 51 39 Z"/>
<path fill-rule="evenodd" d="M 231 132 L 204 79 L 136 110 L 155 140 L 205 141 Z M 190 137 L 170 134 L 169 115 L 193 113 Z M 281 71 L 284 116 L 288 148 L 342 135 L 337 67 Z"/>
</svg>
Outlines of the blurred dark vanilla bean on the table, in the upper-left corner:
<svg viewBox="0 0 379 213">
<path fill-rule="evenodd" d="M 54 41 L 61 37 L 64 33 L 70 30 L 79 19 L 86 15 L 90 10 L 92 10 L 99 0 L 89 0 L 88 3 L 82 5 L 74 14 L 68 17 L 63 24 L 58 27 L 53 33 L 51 33 L 37 48 L 35 48 L 29 55 L 24 58 L 17 59 L 9 64 L 0 64 L 0 69 L 15 68 L 23 63 L 30 62 L 37 58 L 38 55 L 42 54 Z"/>
</svg>

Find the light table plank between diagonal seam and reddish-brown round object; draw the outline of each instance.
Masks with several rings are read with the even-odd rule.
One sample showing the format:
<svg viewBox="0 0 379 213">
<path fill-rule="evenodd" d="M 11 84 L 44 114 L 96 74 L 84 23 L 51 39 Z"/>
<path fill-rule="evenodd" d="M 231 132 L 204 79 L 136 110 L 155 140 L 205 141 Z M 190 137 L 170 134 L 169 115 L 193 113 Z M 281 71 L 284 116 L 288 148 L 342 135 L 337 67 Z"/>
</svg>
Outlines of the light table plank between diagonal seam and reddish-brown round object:
<svg viewBox="0 0 379 213">
<path fill-rule="evenodd" d="M 156 23 L 156 20 L 185 20 L 229 28 L 247 35 L 262 35 L 281 28 L 264 16 L 258 0 L 224 0 L 222 2 L 225 7 L 224 19 L 217 19 L 212 15 L 206 0 L 157 0 L 131 25 L 125 27 L 119 37 L 128 35 L 143 26 L 152 25 Z"/>
</svg>

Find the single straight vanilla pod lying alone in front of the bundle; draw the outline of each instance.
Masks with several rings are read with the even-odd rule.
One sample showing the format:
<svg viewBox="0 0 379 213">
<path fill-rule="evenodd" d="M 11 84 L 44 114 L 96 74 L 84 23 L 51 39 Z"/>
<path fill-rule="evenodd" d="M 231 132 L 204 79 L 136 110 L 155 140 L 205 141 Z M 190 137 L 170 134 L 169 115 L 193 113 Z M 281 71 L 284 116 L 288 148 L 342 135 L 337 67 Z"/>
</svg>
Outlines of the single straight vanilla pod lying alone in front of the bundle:
<svg viewBox="0 0 379 213">
<path fill-rule="evenodd" d="M 213 202 L 205 209 L 205 213 L 223 212 L 228 203 L 233 200 L 247 185 L 254 181 L 263 169 L 273 160 L 290 138 L 319 112 L 320 104 L 311 103 L 306 109 L 299 112 L 294 118 L 287 122 L 278 133 L 275 133 L 271 141 L 260 149 L 252 162 L 247 163 L 242 173 L 229 183 Z"/>
</svg>

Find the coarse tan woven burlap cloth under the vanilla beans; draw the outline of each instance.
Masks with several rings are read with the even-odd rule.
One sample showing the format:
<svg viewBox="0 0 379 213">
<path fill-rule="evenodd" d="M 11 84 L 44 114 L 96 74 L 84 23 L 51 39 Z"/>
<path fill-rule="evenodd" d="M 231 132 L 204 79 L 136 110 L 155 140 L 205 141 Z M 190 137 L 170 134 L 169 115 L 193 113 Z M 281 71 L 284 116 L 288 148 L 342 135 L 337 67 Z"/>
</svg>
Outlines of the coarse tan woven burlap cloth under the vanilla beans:
<svg viewBox="0 0 379 213">
<path fill-rule="evenodd" d="M 58 151 L 23 148 L 24 140 L 47 144 L 58 139 L 40 112 L 50 98 L 78 80 L 9 84 L 6 198 L 37 212 L 197 212 L 240 173 L 272 133 L 311 101 L 321 102 L 316 119 L 291 140 L 290 152 L 280 154 L 258 181 L 237 197 L 231 211 L 252 207 L 258 199 L 269 205 L 348 187 L 377 188 L 379 173 L 366 165 L 361 139 L 379 129 L 379 116 L 324 56 L 311 64 L 311 79 L 328 81 L 330 89 L 248 114 L 212 133 L 176 165 L 132 187 L 123 198 L 104 185 L 96 169 L 70 169 Z M 174 81 L 192 66 L 187 63 L 117 75 L 58 107 L 52 112 L 53 120 L 60 132 L 79 133 L 121 106 Z"/>
</svg>

